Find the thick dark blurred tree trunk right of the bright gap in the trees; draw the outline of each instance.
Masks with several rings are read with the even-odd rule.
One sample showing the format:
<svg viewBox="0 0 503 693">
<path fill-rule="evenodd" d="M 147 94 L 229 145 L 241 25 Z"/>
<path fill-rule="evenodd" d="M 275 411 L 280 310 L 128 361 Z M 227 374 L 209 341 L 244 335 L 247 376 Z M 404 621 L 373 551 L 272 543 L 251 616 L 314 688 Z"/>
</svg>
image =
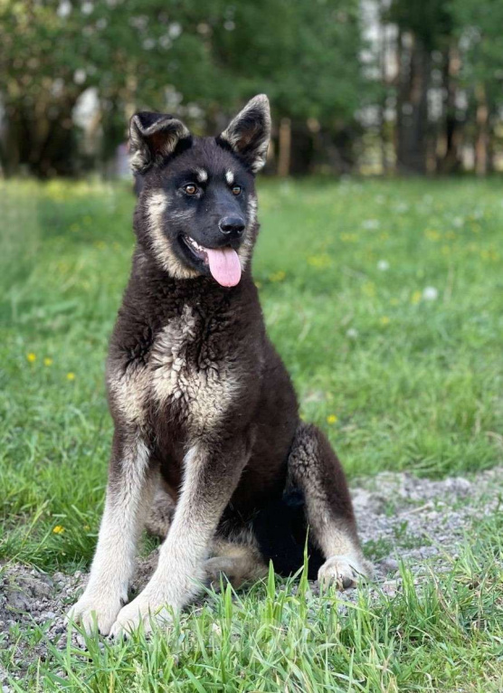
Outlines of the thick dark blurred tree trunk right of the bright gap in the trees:
<svg viewBox="0 0 503 693">
<path fill-rule="evenodd" d="M 412 33 L 399 36 L 400 76 L 397 103 L 397 167 L 425 174 L 427 167 L 430 54 Z"/>
</svg>

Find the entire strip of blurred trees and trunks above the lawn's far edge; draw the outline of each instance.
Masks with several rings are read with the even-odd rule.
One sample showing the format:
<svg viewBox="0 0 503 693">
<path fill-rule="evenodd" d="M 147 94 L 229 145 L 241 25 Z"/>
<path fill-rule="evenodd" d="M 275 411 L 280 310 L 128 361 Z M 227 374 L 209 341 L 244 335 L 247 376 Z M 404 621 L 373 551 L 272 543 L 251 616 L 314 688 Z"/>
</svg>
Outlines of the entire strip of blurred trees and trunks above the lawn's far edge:
<svg viewBox="0 0 503 693">
<path fill-rule="evenodd" d="M 265 91 L 272 173 L 485 175 L 501 26 L 503 0 L 0 0 L 1 171 L 117 173 L 136 109 L 213 134 Z"/>
</svg>

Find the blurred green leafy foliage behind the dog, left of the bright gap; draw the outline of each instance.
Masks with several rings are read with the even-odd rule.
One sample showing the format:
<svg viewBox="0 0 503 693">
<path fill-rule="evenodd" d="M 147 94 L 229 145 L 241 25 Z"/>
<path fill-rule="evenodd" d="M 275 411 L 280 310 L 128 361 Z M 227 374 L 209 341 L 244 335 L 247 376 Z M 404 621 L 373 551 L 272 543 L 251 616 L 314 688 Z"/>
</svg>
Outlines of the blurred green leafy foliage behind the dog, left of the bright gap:
<svg viewBox="0 0 503 693">
<path fill-rule="evenodd" d="M 72 111 L 90 87 L 105 155 L 134 109 L 166 109 L 167 94 L 189 117 L 207 114 L 196 127 L 214 129 L 267 91 L 293 124 L 294 152 L 307 143 L 304 169 L 313 131 L 336 136 L 354 122 L 363 92 L 356 0 L 0 0 L 0 44 L 8 173 L 75 170 Z"/>
</svg>

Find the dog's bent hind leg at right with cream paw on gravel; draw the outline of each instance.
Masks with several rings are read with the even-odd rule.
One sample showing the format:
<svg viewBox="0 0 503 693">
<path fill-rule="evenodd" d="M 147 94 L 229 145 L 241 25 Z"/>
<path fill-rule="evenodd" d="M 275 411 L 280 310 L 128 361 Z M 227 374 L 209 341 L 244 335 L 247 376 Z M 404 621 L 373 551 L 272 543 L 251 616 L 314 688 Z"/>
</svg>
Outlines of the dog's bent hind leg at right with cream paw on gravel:
<svg viewBox="0 0 503 693">
<path fill-rule="evenodd" d="M 299 423 L 289 454 L 289 479 L 302 491 L 309 539 L 321 549 L 325 563 L 318 581 L 339 589 L 370 576 L 356 532 L 356 521 L 344 471 L 325 435 L 314 425 Z"/>
</svg>

